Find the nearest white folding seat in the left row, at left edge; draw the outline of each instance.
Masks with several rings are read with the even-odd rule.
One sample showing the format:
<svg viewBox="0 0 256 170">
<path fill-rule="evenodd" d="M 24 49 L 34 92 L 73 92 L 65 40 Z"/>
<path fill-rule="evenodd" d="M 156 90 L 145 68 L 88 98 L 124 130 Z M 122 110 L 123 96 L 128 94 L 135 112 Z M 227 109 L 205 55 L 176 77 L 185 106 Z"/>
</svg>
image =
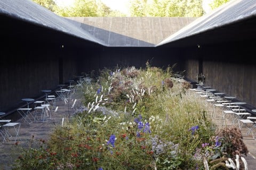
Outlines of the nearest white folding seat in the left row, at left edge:
<svg viewBox="0 0 256 170">
<path fill-rule="evenodd" d="M 10 128 L 14 129 L 14 135 L 15 135 L 14 143 L 16 143 L 17 140 L 21 140 L 19 136 L 20 123 L 7 123 L 7 124 L 4 124 L 2 127 L 4 128 L 3 143 L 4 141 L 7 142 L 6 138 L 8 138 L 9 141 L 12 140 L 11 133 L 13 132 L 11 132 Z"/>
</svg>

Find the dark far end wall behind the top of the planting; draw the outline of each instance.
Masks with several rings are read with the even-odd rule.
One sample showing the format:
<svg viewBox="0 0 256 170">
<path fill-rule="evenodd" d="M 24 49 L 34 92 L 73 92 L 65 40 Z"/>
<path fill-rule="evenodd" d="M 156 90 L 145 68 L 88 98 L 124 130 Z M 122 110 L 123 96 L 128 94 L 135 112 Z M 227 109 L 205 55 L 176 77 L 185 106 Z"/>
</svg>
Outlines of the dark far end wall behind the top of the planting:
<svg viewBox="0 0 256 170">
<path fill-rule="evenodd" d="M 114 69 L 116 66 L 146 67 L 149 61 L 151 66 L 165 69 L 168 65 L 175 66 L 176 71 L 184 70 L 183 61 L 180 60 L 179 49 L 158 50 L 155 47 L 99 47 L 93 48 L 90 54 L 81 51 L 82 57 L 79 59 L 79 72 L 89 73 L 107 67 Z M 85 57 L 85 55 L 89 57 Z"/>
</svg>

